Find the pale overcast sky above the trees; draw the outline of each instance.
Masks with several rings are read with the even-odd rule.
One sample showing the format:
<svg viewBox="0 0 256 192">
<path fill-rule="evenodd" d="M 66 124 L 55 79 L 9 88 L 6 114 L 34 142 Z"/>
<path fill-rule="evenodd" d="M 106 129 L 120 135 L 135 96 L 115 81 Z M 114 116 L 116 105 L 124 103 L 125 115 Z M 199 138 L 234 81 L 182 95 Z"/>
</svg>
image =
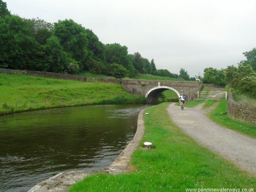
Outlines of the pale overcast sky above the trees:
<svg viewBox="0 0 256 192">
<path fill-rule="evenodd" d="M 236 65 L 256 47 L 256 0 L 3 1 L 20 17 L 73 19 L 102 43 L 125 45 L 172 73 Z"/>
</svg>

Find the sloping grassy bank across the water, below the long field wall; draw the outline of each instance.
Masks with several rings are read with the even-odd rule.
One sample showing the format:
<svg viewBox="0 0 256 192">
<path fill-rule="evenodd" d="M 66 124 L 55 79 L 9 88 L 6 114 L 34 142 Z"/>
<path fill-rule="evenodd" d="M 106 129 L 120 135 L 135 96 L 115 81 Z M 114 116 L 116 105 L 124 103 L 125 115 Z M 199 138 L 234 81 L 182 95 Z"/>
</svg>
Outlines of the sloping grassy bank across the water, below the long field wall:
<svg viewBox="0 0 256 192">
<path fill-rule="evenodd" d="M 119 84 L 0 74 L 0 114 L 96 104 L 145 103 Z"/>
</svg>

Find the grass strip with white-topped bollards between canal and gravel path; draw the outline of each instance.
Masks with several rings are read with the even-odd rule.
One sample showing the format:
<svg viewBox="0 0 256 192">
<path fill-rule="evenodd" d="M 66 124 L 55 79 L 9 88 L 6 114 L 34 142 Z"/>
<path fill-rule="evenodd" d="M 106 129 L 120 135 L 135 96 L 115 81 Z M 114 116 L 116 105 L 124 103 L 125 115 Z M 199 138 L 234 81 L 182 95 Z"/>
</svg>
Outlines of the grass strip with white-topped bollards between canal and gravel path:
<svg viewBox="0 0 256 192">
<path fill-rule="evenodd" d="M 184 134 L 160 104 L 148 108 L 141 141 L 152 150 L 137 149 L 131 159 L 134 171 L 122 175 L 97 174 L 71 187 L 70 192 L 186 191 L 186 188 L 250 188 L 256 177 L 239 170 Z"/>
</svg>

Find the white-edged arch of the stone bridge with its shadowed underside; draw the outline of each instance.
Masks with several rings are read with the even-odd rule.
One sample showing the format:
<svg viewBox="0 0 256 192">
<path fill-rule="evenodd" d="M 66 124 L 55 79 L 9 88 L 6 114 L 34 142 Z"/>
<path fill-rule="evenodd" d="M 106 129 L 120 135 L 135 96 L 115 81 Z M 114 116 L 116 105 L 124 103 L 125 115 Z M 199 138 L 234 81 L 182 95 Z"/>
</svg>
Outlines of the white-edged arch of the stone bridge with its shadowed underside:
<svg viewBox="0 0 256 192">
<path fill-rule="evenodd" d="M 176 89 L 168 86 L 153 87 L 151 90 L 148 91 L 145 97 L 147 98 L 148 102 L 156 103 L 158 101 L 158 97 L 160 96 L 160 94 L 168 89 L 173 90 L 177 94 L 177 96 L 180 97 L 180 93 Z"/>
</svg>

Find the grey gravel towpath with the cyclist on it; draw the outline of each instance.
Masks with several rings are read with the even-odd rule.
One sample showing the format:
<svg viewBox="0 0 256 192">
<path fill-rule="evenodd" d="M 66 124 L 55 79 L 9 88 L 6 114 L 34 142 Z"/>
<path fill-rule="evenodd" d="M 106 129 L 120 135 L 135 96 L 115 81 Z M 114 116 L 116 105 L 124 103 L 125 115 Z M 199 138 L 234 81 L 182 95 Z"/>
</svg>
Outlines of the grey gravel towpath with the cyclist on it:
<svg viewBox="0 0 256 192">
<path fill-rule="evenodd" d="M 185 103 L 181 111 L 179 106 L 171 104 L 167 110 L 176 125 L 198 143 L 256 175 L 256 140 L 212 122 L 202 106 L 186 108 Z"/>
</svg>

